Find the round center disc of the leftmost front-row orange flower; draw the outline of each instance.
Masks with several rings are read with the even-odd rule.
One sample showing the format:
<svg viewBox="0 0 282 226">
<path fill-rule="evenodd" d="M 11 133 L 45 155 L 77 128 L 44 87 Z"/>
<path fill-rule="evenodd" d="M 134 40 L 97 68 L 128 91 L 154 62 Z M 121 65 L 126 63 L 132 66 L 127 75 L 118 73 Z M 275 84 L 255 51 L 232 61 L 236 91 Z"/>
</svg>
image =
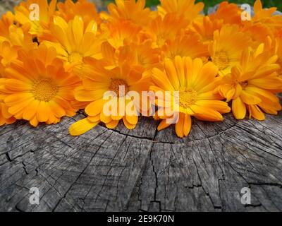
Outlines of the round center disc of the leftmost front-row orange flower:
<svg viewBox="0 0 282 226">
<path fill-rule="evenodd" d="M 35 100 L 45 102 L 50 101 L 58 93 L 58 90 L 59 88 L 51 79 L 36 81 L 32 86 L 32 94 Z"/>
</svg>

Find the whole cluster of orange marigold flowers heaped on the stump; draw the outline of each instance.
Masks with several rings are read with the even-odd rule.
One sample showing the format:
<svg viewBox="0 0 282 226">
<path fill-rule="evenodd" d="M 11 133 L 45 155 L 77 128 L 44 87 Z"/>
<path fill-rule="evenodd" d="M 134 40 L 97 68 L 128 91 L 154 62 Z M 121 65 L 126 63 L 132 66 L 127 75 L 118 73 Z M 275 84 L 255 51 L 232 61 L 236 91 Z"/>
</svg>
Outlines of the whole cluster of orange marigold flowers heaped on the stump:
<svg viewBox="0 0 282 226">
<path fill-rule="evenodd" d="M 31 20 L 31 4 L 38 4 L 39 20 Z M 0 20 L 0 125 L 55 124 L 85 109 L 73 136 L 100 122 L 114 129 L 123 120 L 134 129 L 131 100 L 116 96 L 118 116 L 103 111 L 104 93 L 120 85 L 125 92 L 178 91 L 180 137 L 188 136 L 191 117 L 222 121 L 231 108 L 236 119 L 277 114 L 282 16 L 260 0 L 246 21 L 236 4 L 223 2 L 209 16 L 203 8 L 195 0 L 161 0 L 151 11 L 145 0 L 116 0 L 98 13 L 87 0 L 23 1 Z M 155 102 L 159 130 L 170 126 L 165 103 Z"/>
</svg>

